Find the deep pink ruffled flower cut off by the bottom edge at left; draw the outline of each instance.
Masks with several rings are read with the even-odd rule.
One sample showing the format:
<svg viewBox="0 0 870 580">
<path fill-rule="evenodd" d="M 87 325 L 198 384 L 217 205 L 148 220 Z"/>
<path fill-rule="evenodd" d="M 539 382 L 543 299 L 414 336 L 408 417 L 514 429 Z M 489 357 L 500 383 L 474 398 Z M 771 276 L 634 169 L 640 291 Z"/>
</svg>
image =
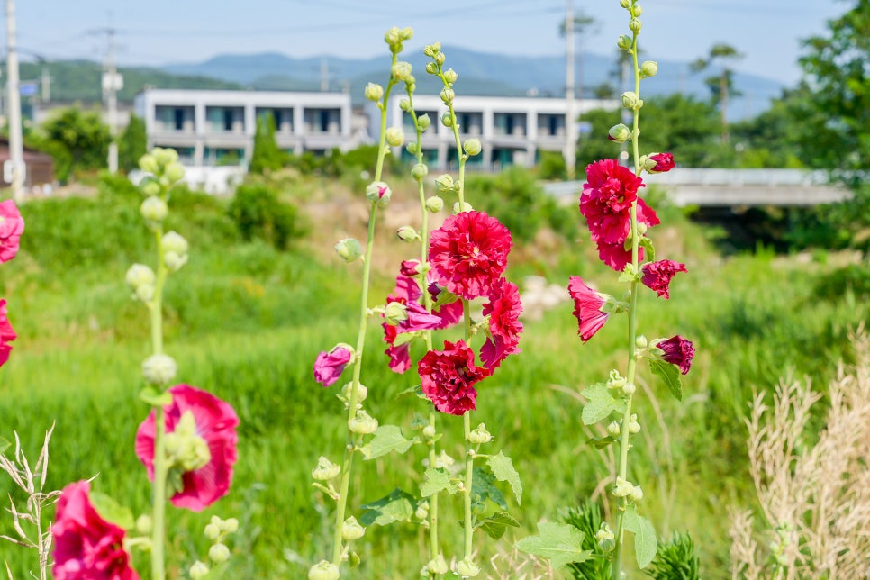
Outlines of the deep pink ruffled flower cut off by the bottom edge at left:
<svg viewBox="0 0 870 580">
<path fill-rule="evenodd" d="M 60 492 L 51 526 L 51 574 L 56 580 L 139 580 L 123 547 L 124 530 L 96 512 L 90 490 L 88 482 L 79 481 Z"/>
</svg>

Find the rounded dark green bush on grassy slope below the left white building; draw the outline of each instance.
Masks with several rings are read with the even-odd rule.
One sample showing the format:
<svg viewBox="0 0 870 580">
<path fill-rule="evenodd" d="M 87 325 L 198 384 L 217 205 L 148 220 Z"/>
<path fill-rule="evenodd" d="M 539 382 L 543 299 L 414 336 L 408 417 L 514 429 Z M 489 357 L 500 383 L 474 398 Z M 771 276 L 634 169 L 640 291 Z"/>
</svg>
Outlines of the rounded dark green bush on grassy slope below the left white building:
<svg viewBox="0 0 870 580">
<path fill-rule="evenodd" d="M 276 249 L 287 249 L 305 232 L 296 206 L 278 200 L 275 191 L 268 186 L 239 186 L 227 214 L 235 222 L 242 240 L 259 238 Z"/>
</svg>

